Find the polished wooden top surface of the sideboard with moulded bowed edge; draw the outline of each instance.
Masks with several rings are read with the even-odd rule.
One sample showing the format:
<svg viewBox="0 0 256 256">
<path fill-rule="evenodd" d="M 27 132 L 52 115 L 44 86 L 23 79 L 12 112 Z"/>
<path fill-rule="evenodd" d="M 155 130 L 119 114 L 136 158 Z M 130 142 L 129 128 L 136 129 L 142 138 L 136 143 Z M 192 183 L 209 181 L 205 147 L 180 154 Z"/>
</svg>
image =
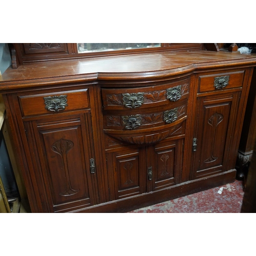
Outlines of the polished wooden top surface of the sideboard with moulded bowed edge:
<svg viewBox="0 0 256 256">
<path fill-rule="evenodd" d="M 255 65 L 256 54 L 180 51 L 36 62 L 9 67 L 0 78 L 0 92 L 42 84 L 161 78 L 206 68 Z"/>
</svg>

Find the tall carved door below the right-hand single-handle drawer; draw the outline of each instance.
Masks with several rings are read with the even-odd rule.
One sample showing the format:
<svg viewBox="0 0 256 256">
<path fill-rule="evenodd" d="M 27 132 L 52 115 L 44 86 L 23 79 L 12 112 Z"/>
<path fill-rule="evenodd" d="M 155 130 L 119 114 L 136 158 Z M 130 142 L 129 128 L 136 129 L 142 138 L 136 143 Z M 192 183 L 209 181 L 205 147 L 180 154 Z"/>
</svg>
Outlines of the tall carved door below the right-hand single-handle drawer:
<svg viewBox="0 0 256 256">
<path fill-rule="evenodd" d="M 197 101 L 194 167 L 190 178 L 196 179 L 224 172 L 229 161 L 229 147 L 234 135 L 240 92 L 205 96 Z"/>
</svg>

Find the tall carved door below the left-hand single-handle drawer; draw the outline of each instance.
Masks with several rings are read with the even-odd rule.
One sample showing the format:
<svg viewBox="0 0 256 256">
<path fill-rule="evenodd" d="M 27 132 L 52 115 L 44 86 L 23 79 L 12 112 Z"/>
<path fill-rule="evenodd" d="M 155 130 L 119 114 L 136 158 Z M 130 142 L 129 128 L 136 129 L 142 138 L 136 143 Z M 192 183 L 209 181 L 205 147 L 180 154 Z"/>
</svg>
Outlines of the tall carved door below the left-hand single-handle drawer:
<svg viewBox="0 0 256 256">
<path fill-rule="evenodd" d="M 89 116 L 25 123 L 44 211 L 75 210 L 97 202 Z"/>
</svg>

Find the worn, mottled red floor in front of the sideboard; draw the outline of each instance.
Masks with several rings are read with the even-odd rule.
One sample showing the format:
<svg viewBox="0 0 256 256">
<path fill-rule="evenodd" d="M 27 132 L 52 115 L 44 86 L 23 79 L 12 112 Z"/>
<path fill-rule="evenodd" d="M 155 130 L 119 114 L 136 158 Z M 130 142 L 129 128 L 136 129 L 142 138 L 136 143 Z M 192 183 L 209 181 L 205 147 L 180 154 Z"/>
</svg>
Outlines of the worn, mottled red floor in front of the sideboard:
<svg viewBox="0 0 256 256">
<path fill-rule="evenodd" d="M 222 193 L 219 194 L 219 189 Z M 244 196 L 242 181 L 130 211 L 132 213 L 239 213 Z"/>
</svg>

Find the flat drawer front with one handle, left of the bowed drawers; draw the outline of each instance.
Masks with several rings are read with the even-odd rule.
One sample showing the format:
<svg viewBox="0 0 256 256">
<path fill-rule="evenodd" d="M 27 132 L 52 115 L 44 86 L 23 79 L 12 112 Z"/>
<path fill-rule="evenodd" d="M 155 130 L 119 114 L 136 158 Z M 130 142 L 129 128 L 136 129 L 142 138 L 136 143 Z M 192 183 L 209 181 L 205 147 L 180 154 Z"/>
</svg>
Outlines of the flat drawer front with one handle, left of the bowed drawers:
<svg viewBox="0 0 256 256">
<path fill-rule="evenodd" d="M 18 96 L 23 116 L 89 108 L 88 89 Z"/>
</svg>

